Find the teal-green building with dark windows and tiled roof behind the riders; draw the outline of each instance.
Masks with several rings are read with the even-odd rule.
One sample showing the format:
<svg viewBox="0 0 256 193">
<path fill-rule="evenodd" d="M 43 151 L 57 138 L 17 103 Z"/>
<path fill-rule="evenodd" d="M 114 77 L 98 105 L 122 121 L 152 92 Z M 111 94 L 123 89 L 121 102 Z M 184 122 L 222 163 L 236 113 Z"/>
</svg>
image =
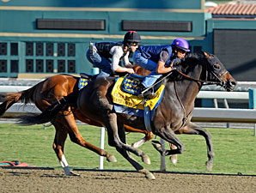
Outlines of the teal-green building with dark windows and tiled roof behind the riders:
<svg viewBox="0 0 256 193">
<path fill-rule="evenodd" d="M 90 73 L 89 42 L 136 30 L 143 45 L 185 38 L 192 52 L 219 57 L 236 80 L 256 81 L 255 17 L 255 1 L 1 0 L 0 77 Z"/>
</svg>

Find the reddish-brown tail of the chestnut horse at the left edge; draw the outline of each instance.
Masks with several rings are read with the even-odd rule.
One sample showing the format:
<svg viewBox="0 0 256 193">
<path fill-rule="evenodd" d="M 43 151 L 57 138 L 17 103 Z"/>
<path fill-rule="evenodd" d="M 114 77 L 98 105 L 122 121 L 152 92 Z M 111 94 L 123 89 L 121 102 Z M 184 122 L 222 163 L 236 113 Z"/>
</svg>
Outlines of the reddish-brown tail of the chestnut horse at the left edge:
<svg viewBox="0 0 256 193">
<path fill-rule="evenodd" d="M 3 116 L 10 106 L 14 105 L 16 102 L 21 101 L 27 104 L 28 102 L 33 102 L 33 94 L 36 86 L 30 87 L 27 90 L 21 91 L 19 93 L 5 93 L 1 94 L 3 103 L 0 105 L 0 117 Z"/>
</svg>

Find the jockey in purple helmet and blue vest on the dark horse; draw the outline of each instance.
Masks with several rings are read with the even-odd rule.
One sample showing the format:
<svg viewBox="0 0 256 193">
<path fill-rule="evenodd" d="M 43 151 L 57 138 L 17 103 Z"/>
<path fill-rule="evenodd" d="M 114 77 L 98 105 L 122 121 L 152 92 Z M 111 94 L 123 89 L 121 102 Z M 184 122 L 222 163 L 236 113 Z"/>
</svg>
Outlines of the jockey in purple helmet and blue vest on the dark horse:
<svg viewBox="0 0 256 193">
<path fill-rule="evenodd" d="M 172 45 L 146 45 L 139 46 L 133 54 L 133 62 L 141 66 L 143 69 L 151 71 L 147 75 L 141 87 L 141 91 L 152 86 L 155 81 L 162 76 L 175 69 L 174 65 L 180 63 L 180 59 L 184 58 L 186 51 L 189 50 L 189 44 L 186 39 L 174 39 Z M 149 90 L 143 93 L 143 97 L 154 98 L 155 93 Z"/>
</svg>

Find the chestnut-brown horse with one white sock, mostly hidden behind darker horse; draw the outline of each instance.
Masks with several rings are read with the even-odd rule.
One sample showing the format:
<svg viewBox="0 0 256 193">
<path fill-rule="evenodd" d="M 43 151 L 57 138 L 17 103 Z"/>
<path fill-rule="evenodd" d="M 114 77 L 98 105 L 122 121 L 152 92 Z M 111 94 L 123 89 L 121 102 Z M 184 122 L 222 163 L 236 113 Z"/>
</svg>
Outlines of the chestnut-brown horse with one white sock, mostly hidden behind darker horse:
<svg viewBox="0 0 256 193">
<path fill-rule="evenodd" d="M 137 75 L 149 74 L 148 70 L 136 65 L 134 70 Z M 3 113 L 6 112 L 10 106 L 18 101 L 24 101 L 25 103 L 33 102 L 40 111 L 43 112 L 47 106 L 51 106 L 56 101 L 63 99 L 64 96 L 76 92 L 78 90 L 78 81 L 79 77 L 73 75 L 53 75 L 36 84 L 34 87 L 20 93 L 7 93 L 4 102 L 0 105 L 0 117 L 3 116 Z M 76 104 L 70 104 L 68 109 L 64 109 L 64 111 L 58 114 L 57 118 L 51 121 L 56 130 L 52 147 L 57 154 L 61 165 L 64 166 L 66 175 L 75 175 L 75 173 L 70 172 L 68 163 L 64 157 L 64 142 L 68 135 L 70 136 L 71 142 L 75 142 L 83 148 L 88 148 L 96 154 L 107 157 L 108 161 L 116 161 L 113 154 L 109 154 L 104 149 L 97 148 L 83 139 L 77 129 L 75 118 L 86 124 L 100 127 L 102 125 L 83 116 L 81 112 L 79 112 L 79 109 L 74 106 L 76 106 Z M 152 133 L 147 130 L 137 130 L 128 125 L 125 125 L 125 130 L 127 132 L 140 132 L 145 134 L 143 140 L 137 142 L 139 145 L 142 145 L 143 142 L 146 142 L 153 137 Z M 148 164 L 150 162 L 149 159 L 146 158 L 145 161 Z"/>
</svg>

